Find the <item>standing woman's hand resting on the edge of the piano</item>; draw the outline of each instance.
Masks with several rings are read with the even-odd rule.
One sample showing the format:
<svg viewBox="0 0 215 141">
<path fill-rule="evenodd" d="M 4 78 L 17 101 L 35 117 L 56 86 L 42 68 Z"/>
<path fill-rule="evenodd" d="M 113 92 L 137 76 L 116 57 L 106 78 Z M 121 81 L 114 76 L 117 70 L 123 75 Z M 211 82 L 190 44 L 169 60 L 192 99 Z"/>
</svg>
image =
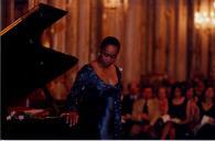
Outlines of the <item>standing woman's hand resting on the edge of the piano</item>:
<svg viewBox="0 0 215 141">
<path fill-rule="evenodd" d="M 78 121 L 78 118 L 79 118 L 79 116 L 76 111 L 64 112 L 61 115 L 61 117 L 65 118 L 66 123 L 68 123 L 69 127 L 75 126 Z"/>
</svg>

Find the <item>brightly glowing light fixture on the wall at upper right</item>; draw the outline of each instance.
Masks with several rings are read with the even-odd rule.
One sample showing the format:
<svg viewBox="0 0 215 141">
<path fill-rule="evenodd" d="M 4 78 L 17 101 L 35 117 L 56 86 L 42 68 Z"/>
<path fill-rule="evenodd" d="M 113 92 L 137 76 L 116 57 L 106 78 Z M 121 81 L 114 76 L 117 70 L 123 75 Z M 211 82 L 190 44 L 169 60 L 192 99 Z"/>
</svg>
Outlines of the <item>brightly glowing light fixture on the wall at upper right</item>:
<svg viewBox="0 0 215 141">
<path fill-rule="evenodd" d="M 197 29 L 214 29 L 215 28 L 215 2 L 213 2 L 213 9 L 208 12 L 195 12 L 194 22 Z"/>
</svg>

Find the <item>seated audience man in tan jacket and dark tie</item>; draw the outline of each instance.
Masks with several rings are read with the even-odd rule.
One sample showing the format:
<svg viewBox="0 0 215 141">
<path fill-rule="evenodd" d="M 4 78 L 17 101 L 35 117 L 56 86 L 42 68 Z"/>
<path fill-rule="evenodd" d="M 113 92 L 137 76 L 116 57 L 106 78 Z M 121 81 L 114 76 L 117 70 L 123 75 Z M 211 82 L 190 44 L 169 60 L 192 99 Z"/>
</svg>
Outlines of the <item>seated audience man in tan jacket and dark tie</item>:
<svg viewBox="0 0 215 141">
<path fill-rule="evenodd" d="M 141 91 L 141 97 L 133 104 L 131 137 L 151 139 L 153 135 L 152 127 L 158 118 L 158 102 L 153 97 L 152 87 L 146 86 Z"/>
</svg>

